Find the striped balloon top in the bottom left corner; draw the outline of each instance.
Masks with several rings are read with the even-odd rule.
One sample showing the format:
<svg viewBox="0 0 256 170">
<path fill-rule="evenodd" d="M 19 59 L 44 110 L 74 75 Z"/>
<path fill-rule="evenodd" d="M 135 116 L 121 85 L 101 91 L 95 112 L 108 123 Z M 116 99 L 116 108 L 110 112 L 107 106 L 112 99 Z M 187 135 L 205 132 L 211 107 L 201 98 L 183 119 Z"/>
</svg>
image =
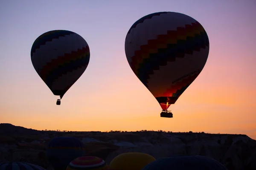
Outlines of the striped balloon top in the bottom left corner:
<svg viewBox="0 0 256 170">
<path fill-rule="evenodd" d="M 35 164 L 25 162 L 0 162 L 0 170 L 45 170 Z"/>
</svg>

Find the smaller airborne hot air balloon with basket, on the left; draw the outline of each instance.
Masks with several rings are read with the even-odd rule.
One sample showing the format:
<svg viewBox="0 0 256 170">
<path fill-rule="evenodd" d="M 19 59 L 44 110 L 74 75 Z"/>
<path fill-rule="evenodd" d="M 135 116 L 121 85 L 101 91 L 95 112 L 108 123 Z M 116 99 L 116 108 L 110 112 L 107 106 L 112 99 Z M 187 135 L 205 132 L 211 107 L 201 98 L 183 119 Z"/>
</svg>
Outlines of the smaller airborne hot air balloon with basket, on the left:
<svg viewBox="0 0 256 170">
<path fill-rule="evenodd" d="M 54 95 L 62 97 L 81 77 L 90 60 L 90 49 L 79 34 L 66 30 L 48 31 L 31 48 L 35 71 Z M 61 104 L 58 99 L 57 105 Z"/>
</svg>

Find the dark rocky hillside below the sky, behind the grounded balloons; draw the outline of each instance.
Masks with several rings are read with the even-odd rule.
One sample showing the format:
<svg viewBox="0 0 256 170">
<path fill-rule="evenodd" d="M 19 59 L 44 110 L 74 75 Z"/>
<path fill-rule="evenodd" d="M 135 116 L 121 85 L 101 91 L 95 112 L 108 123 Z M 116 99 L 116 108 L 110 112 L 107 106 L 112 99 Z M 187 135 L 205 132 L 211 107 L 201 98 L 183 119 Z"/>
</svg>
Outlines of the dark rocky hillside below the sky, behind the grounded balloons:
<svg viewBox="0 0 256 170">
<path fill-rule="evenodd" d="M 173 155 L 213 158 L 230 170 L 256 170 L 256 141 L 246 135 L 137 132 L 39 131 L 0 124 L 0 161 L 26 161 L 52 169 L 45 147 L 55 136 L 74 136 L 84 143 L 84 155 L 98 156 L 107 163 L 120 153 L 143 152 L 156 159 Z"/>
</svg>

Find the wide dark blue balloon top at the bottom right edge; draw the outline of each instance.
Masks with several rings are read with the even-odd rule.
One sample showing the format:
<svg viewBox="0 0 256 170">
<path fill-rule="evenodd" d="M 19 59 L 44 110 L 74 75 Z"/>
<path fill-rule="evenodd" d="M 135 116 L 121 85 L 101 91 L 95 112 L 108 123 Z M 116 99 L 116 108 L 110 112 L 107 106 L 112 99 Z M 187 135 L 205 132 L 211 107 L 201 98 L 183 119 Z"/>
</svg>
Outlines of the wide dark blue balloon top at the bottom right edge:
<svg viewBox="0 0 256 170">
<path fill-rule="evenodd" d="M 221 163 L 206 156 L 171 156 L 157 159 L 143 170 L 227 170 Z"/>
</svg>

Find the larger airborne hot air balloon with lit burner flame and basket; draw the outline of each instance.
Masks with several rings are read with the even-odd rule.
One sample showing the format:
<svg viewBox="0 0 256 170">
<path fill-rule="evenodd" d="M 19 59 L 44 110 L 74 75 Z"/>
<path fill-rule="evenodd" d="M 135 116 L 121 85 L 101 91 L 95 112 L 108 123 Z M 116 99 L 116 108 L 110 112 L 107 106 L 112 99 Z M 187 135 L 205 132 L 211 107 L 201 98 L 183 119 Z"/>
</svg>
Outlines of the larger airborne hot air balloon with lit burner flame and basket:
<svg viewBox="0 0 256 170">
<path fill-rule="evenodd" d="M 134 74 L 159 102 L 161 117 L 200 74 L 209 39 L 197 20 L 177 12 L 157 12 L 137 20 L 125 38 L 125 54 Z"/>
</svg>

